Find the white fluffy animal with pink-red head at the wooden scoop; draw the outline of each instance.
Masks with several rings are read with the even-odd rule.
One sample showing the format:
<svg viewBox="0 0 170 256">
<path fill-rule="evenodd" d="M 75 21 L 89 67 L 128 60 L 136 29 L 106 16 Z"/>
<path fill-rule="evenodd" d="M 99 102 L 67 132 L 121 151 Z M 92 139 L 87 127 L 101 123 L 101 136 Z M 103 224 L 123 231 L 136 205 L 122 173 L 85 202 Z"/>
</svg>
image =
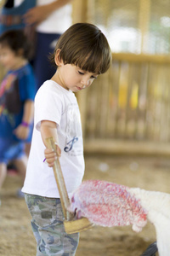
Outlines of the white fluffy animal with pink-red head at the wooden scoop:
<svg viewBox="0 0 170 256">
<path fill-rule="evenodd" d="M 132 224 L 136 232 L 148 219 L 156 228 L 159 255 L 170 255 L 170 195 L 166 193 L 89 180 L 72 195 L 69 211 L 102 226 Z"/>
</svg>

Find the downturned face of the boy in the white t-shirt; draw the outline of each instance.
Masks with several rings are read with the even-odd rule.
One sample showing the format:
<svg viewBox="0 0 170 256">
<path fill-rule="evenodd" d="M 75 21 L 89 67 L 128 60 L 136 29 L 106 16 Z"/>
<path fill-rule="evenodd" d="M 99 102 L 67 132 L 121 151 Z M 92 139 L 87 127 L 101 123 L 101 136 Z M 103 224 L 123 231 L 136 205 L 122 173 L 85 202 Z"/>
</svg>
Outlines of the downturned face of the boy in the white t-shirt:
<svg viewBox="0 0 170 256">
<path fill-rule="evenodd" d="M 97 79 L 97 73 L 89 73 L 72 64 L 62 64 L 58 67 L 58 81 L 66 90 L 77 92 L 89 87 L 94 79 Z"/>
</svg>

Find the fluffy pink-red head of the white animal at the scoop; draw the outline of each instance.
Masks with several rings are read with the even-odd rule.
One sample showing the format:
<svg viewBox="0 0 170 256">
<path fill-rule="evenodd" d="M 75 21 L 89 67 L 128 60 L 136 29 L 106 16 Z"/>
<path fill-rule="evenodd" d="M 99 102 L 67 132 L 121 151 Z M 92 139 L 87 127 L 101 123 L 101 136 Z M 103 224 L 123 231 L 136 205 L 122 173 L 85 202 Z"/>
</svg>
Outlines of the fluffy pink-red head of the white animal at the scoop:
<svg viewBox="0 0 170 256">
<path fill-rule="evenodd" d="M 88 180 L 73 193 L 71 207 L 77 218 L 86 217 L 101 226 L 133 225 L 139 232 L 147 223 L 147 211 L 129 188 L 116 183 Z"/>
</svg>

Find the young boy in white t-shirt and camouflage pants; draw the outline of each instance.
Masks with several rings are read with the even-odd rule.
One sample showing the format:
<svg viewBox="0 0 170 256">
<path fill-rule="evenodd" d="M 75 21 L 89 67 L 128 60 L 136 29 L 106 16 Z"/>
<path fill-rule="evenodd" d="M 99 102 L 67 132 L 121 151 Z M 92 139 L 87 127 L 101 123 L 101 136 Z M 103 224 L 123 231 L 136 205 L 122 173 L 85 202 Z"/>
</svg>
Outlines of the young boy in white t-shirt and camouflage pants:
<svg viewBox="0 0 170 256">
<path fill-rule="evenodd" d="M 73 92 L 87 88 L 108 70 L 111 49 L 98 27 L 77 23 L 59 38 L 51 61 L 57 70 L 37 91 L 35 127 L 22 191 L 32 216 L 37 256 L 70 256 L 76 253 L 79 234 L 65 233 L 59 191 L 50 168 L 56 155 L 48 149 L 46 139 L 54 137 L 66 189 L 71 195 L 84 174 L 82 126 Z"/>
</svg>

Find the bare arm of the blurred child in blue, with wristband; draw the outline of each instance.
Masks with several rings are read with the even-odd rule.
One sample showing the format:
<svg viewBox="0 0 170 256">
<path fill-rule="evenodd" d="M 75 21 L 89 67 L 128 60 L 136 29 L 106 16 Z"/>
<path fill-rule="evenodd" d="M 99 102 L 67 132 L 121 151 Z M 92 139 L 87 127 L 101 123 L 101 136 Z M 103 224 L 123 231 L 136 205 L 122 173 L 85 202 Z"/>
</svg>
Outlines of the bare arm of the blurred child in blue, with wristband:
<svg viewBox="0 0 170 256">
<path fill-rule="evenodd" d="M 27 100 L 24 105 L 22 123 L 14 130 L 14 134 L 20 139 L 26 139 L 34 115 L 34 102 Z"/>
</svg>

